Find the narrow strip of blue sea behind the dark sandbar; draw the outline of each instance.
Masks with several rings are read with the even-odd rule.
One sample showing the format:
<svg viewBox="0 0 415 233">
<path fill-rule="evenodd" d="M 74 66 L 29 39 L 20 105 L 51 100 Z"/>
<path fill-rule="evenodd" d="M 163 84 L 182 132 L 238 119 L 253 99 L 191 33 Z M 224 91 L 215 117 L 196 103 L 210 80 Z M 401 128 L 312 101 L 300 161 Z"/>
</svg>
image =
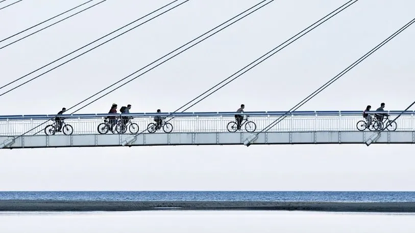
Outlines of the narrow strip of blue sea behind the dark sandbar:
<svg viewBox="0 0 415 233">
<path fill-rule="evenodd" d="M 415 201 L 415 192 L 0 192 L 30 200 Z"/>
</svg>

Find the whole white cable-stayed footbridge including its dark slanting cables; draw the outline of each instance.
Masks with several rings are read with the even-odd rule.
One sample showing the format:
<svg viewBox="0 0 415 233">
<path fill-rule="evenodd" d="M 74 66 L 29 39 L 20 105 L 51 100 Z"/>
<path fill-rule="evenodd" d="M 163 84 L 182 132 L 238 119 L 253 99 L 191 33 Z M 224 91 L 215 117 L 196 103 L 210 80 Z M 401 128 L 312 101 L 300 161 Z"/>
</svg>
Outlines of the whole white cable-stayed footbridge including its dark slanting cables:
<svg viewBox="0 0 415 233">
<path fill-rule="evenodd" d="M 80 8 L 82 10 L 80 10 L 79 12 L 67 16 L 66 18 L 63 18 L 60 21 L 66 20 L 72 16 L 77 15 L 78 13 L 87 11 L 88 9 L 98 4 L 104 3 L 105 1 L 106 0 L 97 3 L 90 3 L 91 1 L 87 1 L 84 4 L 76 6 L 66 12 L 54 16 L 53 18 L 47 19 L 32 27 L 36 27 L 37 25 L 48 22 L 49 20 L 52 20 L 58 16 L 60 17 L 63 15 L 62 17 L 64 17 L 65 13 L 75 10 L 79 7 L 83 7 L 83 9 Z M 92 41 L 91 43 L 85 46 L 80 47 L 77 50 L 74 50 L 60 57 L 57 60 L 52 61 L 51 63 L 46 64 L 45 66 L 42 66 L 26 75 L 23 75 L 9 83 L 6 83 L 5 85 L 0 87 L 0 90 L 8 86 L 11 86 L 16 81 L 26 78 L 37 71 L 43 72 L 43 68 L 47 68 L 48 66 L 56 62 L 59 62 L 61 60 L 63 61 L 59 65 L 56 65 L 52 68 L 47 68 L 48 70 L 44 71 L 40 75 L 37 75 L 35 77 L 29 77 L 29 79 L 26 81 L 23 79 L 23 83 L 20 83 L 14 87 L 10 87 L 11 89 L 0 94 L 0 97 L 20 88 L 20 86 L 22 85 L 26 85 L 27 83 L 41 77 L 42 75 L 48 72 L 51 72 L 69 63 L 74 59 L 77 59 L 77 57 L 82 56 L 83 54 L 92 51 L 93 49 L 98 48 L 104 45 L 105 43 L 130 32 L 131 30 L 134 30 L 138 26 L 147 23 L 152 19 L 157 18 L 171 10 L 174 10 L 175 8 L 178 8 L 181 5 L 186 4 L 189 1 L 191 0 L 173 1 L 161 8 L 158 8 L 153 12 L 150 12 L 147 15 L 144 15 L 143 17 L 140 17 L 126 24 L 123 27 L 118 28 L 115 31 L 112 31 L 109 34 L 106 34 L 105 36 L 95 41 Z M 339 74 L 329 79 L 327 83 L 325 83 L 319 89 L 312 92 L 311 95 L 307 96 L 304 100 L 296 104 L 288 111 L 246 112 L 246 115 L 249 115 L 249 121 L 242 122 L 243 125 L 240 130 L 235 129 L 235 123 L 231 123 L 235 120 L 235 112 L 185 112 L 190 107 L 198 104 L 210 95 L 214 94 L 216 91 L 222 89 L 225 85 L 234 81 L 239 76 L 243 75 L 249 70 L 255 68 L 269 57 L 273 56 L 280 50 L 289 46 L 291 43 L 302 38 L 307 33 L 311 32 L 314 28 L 320 26 L 321 24 L 330 20 L 340 12 L 351 7 L 353 4 L 357 3 L 358 0 L 351 0 L 341 5 L 340 7 L 333 10 L 320 20 L 310 24 L 308 27 L 306 27 L 304 30 L 302 30 L 295 36 L 290 37 L 282 44 L 269 50 L 267 53 L 263 54 L 258 59 L 249 63 L 242 69 L 238 70 L 233 75 L 217 83 L 212 88 L 208 89 L 206 92 L 190 100 L 188 103 L 184 104 L 174 112 L 127 114 L 124 116 L 131 117 L 132 120 L 129 121 L 127 126 L 125 127 L 119 123 L 115 124 L 115 126 L 113 127 L 112 124 L 108 125 L 108 122 L 105 121 L 105 119 L 108 116 L 112 117 L 119 115 L 75 114 L 84 107 L 92 104 L 97 100 L 100 100 L 106 95 L 111 94 L 112 92 L 116 91 L 117 89 L 121 88 L 127 83 L 130 83 L 131 81 L 137 79 L 145 73 L 150 72 L 151 70 L 157 68 L 158 66 L 169 61 L 170 59 L 173 59 L 177 55 L 214 36 L 216 33 L 225 30 L 225 28 L 231 26 L 232 24 L 238 22 L 239 20 L 242 20 L 243 18 L 260 10 L 263 7 L 266 7 L 268 4 L 271 4 L 273 2 L 274 0 L 264 0 L 257 3 L 251 8 L 225 21 L 224 23 L 217 25 L 216 27 L 212 28 L 206 33 L 183 44 L 179 48 L 165 54 L 164 56 L 148 64 L 147 66 L 144 66 L 139 70 L 133 72 L 132 74 L 124 78 L 121 78 L 117 82 L 108 85 L 107 88 L 103 89 L 102 91 L 91 95 L 90 97 L 75 104 L 74 106 L 71 106 L 69 109 L 77 109 L 71 112 L 70 114 L 62 115 L 62 117 L 65 118 L 65 123 L 62 127 L 62 132 L 56 132 L 56 125 L 54 125 L 54 123 L 51 122 L 51 119 L 53 119 L 55 115 L 0 116 L 0 148 L 17 149 L 61 147 L 115 147 L 143 145 L 250 145 L 327 143 L 366 143 L 369 145 L 371 143 L 415 143 L 414 112 L 408 110 L 413 104 L 415 104 L 415 102 L 409 105 L 408 108 L 405 110 L 388 111 L 390 118 L 394 118 L 393 122 L 396 124 L 396 128 L 389 129 L 388 127 L 384 127 L 382 129 L 375 129 L 373 131 L 369 129 L 358 129 L 358 122 L 362 120 L 361 111 L 298 111 L 298 109 L 301 106 L 310 101 L 313 97 L 318 95 L 333 82 L 341 78 L 344 74 L 353 69 L 356 65 L 361 63 L 363 60 L 367 59 L 367 57 L 369 57 L 383 45 L 385 45 L 390 40 L 399 35 L 401 32 L 403 32 L 407 27 L 409 27 L 411 24 L 415 22 L 415 19 L 412 19 L 403 27 L 399 28 L 399 30 L 397 30 L 395 33 L 390 35 L 380 44 L 376 45 L 373 49 L 369 50 L 369 52 L 367 52 L 358 60 L 356 60 L 356 62 L 352 63 L 345 70 L 341 71 Z M 0 8 L 0 10 L 1 9 L 3 8 Z M 49 26 L 52 26 L 60 21 L 57 21 Z M 35 33 L 38 33 L 49 26 L 46 26 L 41 30 L 36 31 Z M 27 30 L 30 30 L 32 27 L 28 28 Z M 119 33 L 118 31 L 121 29 L 128 30 L 123 33 Z M 21 31 L 18 34 L 26 32 L 27 30 Z M 118 35 L 115 34 L 117 32 Z M 26 37 L 29 37 L 35 33 L 32 33 Z M 0 41 L 6 41 L 5 43 L 8 43 L 3 47 L 0 47 L 0 50 L 20 41 L 21 39 L 26 38 L 23 37 L 19 40 L 10 42 L 10 39 L 13 39 L 13 37 L 18 34 L 15 34 Z M 94 43 L 99 42 L 101 39 L 104 39 L 113 34 L 114 36 L 111 39 L 108 39 L 99 45 L 93 45 Z M 90 45 L 94 47 L 89 48 L 88 46 Z M 69 55 L 71 55 L 71 59 L 64 61 L 63 59 L 65 59 L 65 57 Z M 141 74 L 132 77 L 133 75 L 141 71 Z M 121 83 L 123 81 L 124 83 Z M 90 100 L 91 98 L 94 98 L 95 96 L 112 88 L 113 86 L 116 87 L 114 87 L 107 93 L 102 94 L 101 96 L 93 100 Z M 79 107 L 79 105 L 81 104 L 83 105 Z M 163 123 L 160 129 L 158 129 L 157 127 L 154 128 L 154 125 L 151 125 L 154 123 L 153 119 L 157 115 L 167 116 L 168 119 L 165 123 Z"/>
</svg>

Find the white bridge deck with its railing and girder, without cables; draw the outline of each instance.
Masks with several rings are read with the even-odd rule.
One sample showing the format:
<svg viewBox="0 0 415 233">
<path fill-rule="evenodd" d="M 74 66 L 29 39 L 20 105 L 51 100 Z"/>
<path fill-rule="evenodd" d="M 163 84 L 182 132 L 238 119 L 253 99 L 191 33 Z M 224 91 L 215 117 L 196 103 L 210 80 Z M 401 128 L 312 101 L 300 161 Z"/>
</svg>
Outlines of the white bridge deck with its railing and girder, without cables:
<svg viewBox="0 0 415 233">
<path fill-rule="evenodd" d="M 397 129 L 377 132 L 357 130 L 356 123 L 363 120 L 362 111 L 295 111 L 295 112 L 245 112 L 249 121 L 256 124 L 254 132 L 242 130 L 229 132 L 227 125 L 235 121 L 235 112 L 185 112 L 185 113 L 131 113 L 138 133 L 109 131 L 98 132 L 97 127 L 107 116 L 119 114 L 62 115 L 65 124 L 73 128 L 72 134 L 57 132 L 45 134 L 45 127 L 53 124 L 55 115 L 5 115 L 0 116 L 0 148 L 62 148 L 62 147 L 113 147 L 138 145 L 242 145 L 253 134 L 260 132 L 281 116 L 279 124 L 258 133 L 251 144 L 327 144 L 327 143 L 415 143 L 415 112 L 386 111 L 389 119 L 402 113 L 396 121 Z M 372 114 L 375 111 L 371 112 Z M 155 115 L 167 116 L 173 125 L 170 133 L 162 129 L 150 133 L 147 128 L 154 123 Z M 32 130 L 38 126 L 36 129 Z M 22 135 L 23 133 L 26 133 Z M 373 138 L 374 135 L 376 138 Z"/>
</svg>

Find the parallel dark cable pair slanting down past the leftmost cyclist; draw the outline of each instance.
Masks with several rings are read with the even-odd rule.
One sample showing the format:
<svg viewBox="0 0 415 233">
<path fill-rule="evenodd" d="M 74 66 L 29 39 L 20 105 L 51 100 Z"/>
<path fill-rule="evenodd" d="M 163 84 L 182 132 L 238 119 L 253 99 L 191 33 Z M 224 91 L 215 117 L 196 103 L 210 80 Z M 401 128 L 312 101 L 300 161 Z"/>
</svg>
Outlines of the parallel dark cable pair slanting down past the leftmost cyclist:
<svg viewBox="0 0 415 233">
<path fill-rule="evenodd" d="M 158 66 L 160 66 L 161 64 L 163 64 L 163 63 L 167 62 L 168 60 L 173 59 L 173 57 L 175 57 L 175 56 L 177 56 L 177 55 L 181 54 L 182 52 L 184 52 L 184 51 L 188 50 L 189 48 L 191 48 L 191 47 L 193 47 L 193 46 L 195 46 L 195 45 L 197 45 L 197 44 L 201 43 L 202 41 L 204 41 L 204 40 L 208 39 L 209 37 L 211 37 L 211 36 L 215 35 L 216 33 L 221 32 L 222 30 L 224 30 L 224 29 L 225 29 L 225 28 L 227 28 L 228 26 L 230 26 L 230 25 L 232 25 L 232 24 L 236 23 L 237 21 L 239 21 L 239 20 L 241 20 L 241 19 L 243 19 L 243 18 L 247 17 L 248 15 L 250 15 L 250 14 L 252 14 L 252 13 L 256 12 L 257 10 L 261 9 L 262 7 L 264 7 L 264 6 L 266 6 L 266 5 L 270 4 L 270 3 L 272 3 L 272 2 L 274 2 L 274 1 L 275 1 L 275 0 L 271 0 L 271 1 L 270 1 L 270 0 L 263 0 L 262 2 L 260 2 L 260 3 L 256 4 L 256 5 L 254 5 L 253 7 L 249 8 L 248 10 L 245 10 L 245 11 L 243 11 L 243 12 L 239 13 L 238 15 L 236 15 L 236 16 L 234 16 L 234 17 L 232 17 L 231 19 L 229 19 L 229 20 L 225 21 L 224 23 L 219 24 L 218 26 L 216 26 L 216 27 L 212 28 L 212 29 L 211 29 L 211 30 L 209 30 L 208 32 L 206 32 L 206 33 L 204 33 L 204 34 L 200 35 L 199 37 L 197 37 L 197 38 L 193 39 L 192 41 L 189 41 L 188 43 L 186 43 L 186 44 L 184 44 L 184 45 L 180 46 L 179 48 L 177 48 L 177 49 L 173 50 L 172 52 L 167 53 L 166 55 L 164 55 L 164 56 L 160 57 L 160 59 L 158 59 L 158 60 L 154 61 L 153 63 L 151 63 L 151 64 L 149 64 L 149 65 L 147 65 L 147 66 L 145 66 L 145 67 L 148 67 L 148 66 L 150 66 L 150 65 L 152 65 L 152 64 L 154 64 L 154 63 L 156 63 L 157 61 L 159 61 L 159 60 L 163 59 L 163 57 L 166 57 L 166 56 L 168 56 L 169 54 L 172 54 L 173 52 L 175 52 L 175 51 L 179 50 L 180 48 L 183 48 L 184 46 L 186 46 L 186 45 L 190 44 L 191 42 L 196 41 L 197 39 L 199 39 L 199 38 L 201 38 L 201 37 L 203 37 L 203 36 L 207 35 L 208 33 L 210 33 L 210 32 L 212 32 L 212 31 L 216 30 L 217 28 L 221 27 L 222 25 L 224 25 L 224 24 L 226 24 L 226 23 L 228 23 L 228 22 L 232 21 L 233 19 L 237 18 L 238 16 L 243 15 L 244 13 L 246 13 L 246 12 L 248 12 L 248 11 L 250 11 L 250 10 L 254 9 L 255 7 L 257 7 L 257 6 L 261 5 L 261 4 L 262 4 L 262 3 L 264 3 L 264 2 L 267 2 L 267 3 L 265 3 L 264 5 L 260 6 L 259 8 L 257 8 L 257 9 L 255 9 L 255 10 L 253 10 L 253 11 L 249 12 L 249 13 L 248 13 L 248 14 L 246 14 L 246 15 L 243 15 L 242 17 L 240 17 L 240 18 L 236 19 L 235 21 L 233 21 L 233 22 L 231 22 L 230 24 L 226 25 L 225 27 L 223 27 L 223 28 L 219 29 L 218 31 L 214 32 L 213 34 L 209 35 L 208 37 L 206 37 L 206 38 L 202 39 L 201 41 L 197 42 L 196 44 L 193 44 L 193 45 L 191 45 L 190 47 L 187 47 L 186 49 L 184 49 L 184 50 L 180 51 L 179 53 L 175 54 L 174 56 L 169 57 L 167 60 L 165 60 L 165 61 L 163 61 L 162 63 L 158 64 L 157 66 L 155 66 L 155 67 L 151 68 L 150 70 L 155 69 L 156 67 L 158 67 Z M 145 67 L 141 68 L 140 70 L 144 69 Z M 139 72 L 140 70 L 138 70 L 138 71 L 136 71 L 136 72 L 132 73 L 131 75 L 133 75 L 133 74 L 135 74 L 135 73 Z M 144 73 L 142 73 L 142 74 L 140 74 L 140 75 L 136 76 L 136 77 L 135 77 L 135 78 L 133 78 L 132 80 L 134 80 L 134 79 L 138 78 L 139 76 L 141 76 L 141 75 L 143 75 L 143 74 L 145 74 L 145 73 L 149 72 L 150 70 L 145 71 Z M 131 76 L 131 75 L 129 75 L 129 76 Z M 125 78 L 123 78 L 123 79 L 119 80 L 118 82 L 120 82 L 120 81 L 122 81 L 122 80 L 124 80 L 124 79 L 128 78 L 129 76 L 127 76 L 127 77 L 125 77 Z M 130 81 L 132 81 L 132 80 L 130 80 Z M 130 81 L 128 81 L 128 82 L 130 82 Z M 111 87 L 111 86 L 113 86 L 113 85 L 117 84 L 118 82 L 115 82 L 114 84 L 110 85 L 109 87 Z M 126 82 L 126 83 L 124 83 L 124 84 L 122 84 L 122 85 L 118 86 L 117 88 L 115 88 L 115 89 L 111 90 L 110 92 L 108 92 L 108 93 L 104 94 L 103 96 L 101 96 L 101 97 L 99 97 L 99 98 L 97 98 L 97 99 L 95 99 L 95 100 L 93 100 L 93 101 L 89 102 L 88 104 L 86 104 L 86 105 L 82 106 L 81 108 L 79 108 L 79 109 L 75 110 L 74 112 L 72 112 L 72 113 L 70 113 L 70 114 L 74 114 L 75 112 L 77 112 L 77 111 L 81 110 L 82 108 L 84 108 L 84 107 L 86 107 L 86 106 L 88 106 L 88 105 L 92 104 L 92 103 L 93 103 L 93 102 L 95 102 L 96 100 L 99 100 L 99 99 L 101 99 L 102 97 L 104 97 L 104 96 L 106 96 L 106 95 L 110 94 L 111 92 L 114 92 L 115 90 L 117 90 L 117 89 L 118 89 L 118 88 L 120 88 L 121 86 L 123 86 L 123 85 L 127 84 L 128 82 Z M 108 87 L 108 88 L 109 88 L 109 87 Z M 106 88 L 106 89 L 108 89 L 108 88 Z M 72 109 L 72 108 L 74 108 L 74 107 L 78 106 L 79 104 L 81 104 L 81 103 L 85 102 L 86 100 L 88 100 L 88 99 L 92 98 L 93 96 L 96 96 L 97 94 L 99 94 L 99 93 L 101 93 L 101 92 L 105 91 L 106 89 L 104 89 L 104 90 L 102 90 L 102 91 L 100 91 L 100 92 L 98 92 L 98 93 L 96 93 L 96 94 L 92 95 L 91 97 L 89 97 L 89 98 L 87 98 L 87 99 L 85 99 L 85 100 L 81 101 L 80 103 L 78 103 L 78 104 L 76 104 L 76 105 L 74 105 L 74 106 L 72 106 L 72 107 L 70 107 L 70 108 L 67 108 L 66 110 L 68 111 L 69 109 Z M 16 137 L 16 138 L 14 138 L 14 140 L 15 140 L 15 139 L 17 139 L 17 138 L 19 138 L 19 137 L 21 137 L 21 136 L 23 136 L 23 135 L 25 135 L 25 134 L 27 134 L 27 133 L 29 133 L 29 132 L 31 132 L 32 130 L 34 130 L 34 129 L 36 129 L 36 128 L 40 127 L 41 125 L 43 125 L 43 124 L 47 123 L 48 121 L 50 121 L 50 120 L 52 120 L 52 119 L 53 119 L 53 118 L 51 118 L 51 119 L 49 119 L 49 120 L 45 121 L 44 123 L 42 123 L 42 124 L 40 124 L 40 125 L 38 125 L 38 126 L 36 126 L 36 127 L 32 128 L 32 129 L 31 129 L 31 130 L 29 130 L 29 131 L 26 131 L 25 133 L 21 134 L 20 136 L 18 136 L 18 137 Z M 41 132 L 41 131 L 42 131 L 42 130 L 38 131 L 37 133 L 39 133 L 39 132 Z M 35 134 L 37 134 L 37 133 L 35 133 Z"/>
</svg>

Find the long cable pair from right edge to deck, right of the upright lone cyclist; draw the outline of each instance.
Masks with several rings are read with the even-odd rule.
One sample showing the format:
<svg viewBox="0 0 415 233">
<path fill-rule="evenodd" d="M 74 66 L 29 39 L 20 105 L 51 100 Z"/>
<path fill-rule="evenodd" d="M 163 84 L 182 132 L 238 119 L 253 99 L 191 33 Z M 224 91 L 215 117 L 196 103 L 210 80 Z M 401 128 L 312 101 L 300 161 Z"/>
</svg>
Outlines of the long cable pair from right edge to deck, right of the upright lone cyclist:
<svg viewBox="0 0 415 233">
<path fill-rule="evenodd" d="M 403 27 L 399 28 L 398 31 L 396 31 L 394 34 L 392 34 L 391 36 L 389 36 L 388 38 L 386 38 L 384 41 L 382 41 L 380 44 L 378 44 L 377 46 L 375 46 L 373 49 L 371 49 L 369 52 L 367 52 L 366 54 L 364 54 L 363 56 L 361 56 L 357 61 L 355 61 L 352 65 L 350 65 L 349 67 L 347 67 L 346 69 L 344 69 L 343 71 L 341 71 L 339 74 L 337 74 L 336 76 L 334 76 L 332 79 L 330 79 L 328 82 L 324 83 L 319 89 L 317 89 L 316 91 L 314 91 L 313 93 L 311 93 L 309 96 L 307 96 L 305 99 L 303 99 L 302 101 L 300 101 L 298 104 L 296 104 L 294 107 L 292 107 L 290 110 L 288 110 L 287 112 L 285 112 L 282 116 L 280 116 L 277 120 L 275 120 L 274 122 L 272 122 L 271 124 L 269 124 L 268 126 L 266 126 L 264 129 L 262 129 L 260 132 L 256 133 L 256 135 L 258 135 L 259 133 L 262 132 L 267 132 L 268 130 L 270 130 L 272 127 L 274 127 L 275 125 L 277 125 L 278 123 L 280 123 L 282 120 L 284 120 L 287 117 L 287 114 L 291 111 L 295 111 L 298 108 L 300 108 L 302 105 L 304 105 L 305 103 L 307 103 L 309 100 L 311 100 L 314 96 L 318 95 L 320 92 L 322 92 L 324 89 L 326 89 L 329 85 L 331 85 L 333 82 L 335 82 L 336 80 L 338 80 L 341 76 L 345 75 L 347 72 L 349 72 L 351 69 L 353 69 L 355 66 L 357 66 L 359 63 L 361 63 L 362 61 L 364 61 L 365 59 L 367 59 L 368 56 L 370 56 L 372 53 L 374 53 L 375 51 L 377 51 L 379 48 L 381 48 L 383 45 L 385 45 L 387 42 L 389 42 L 390 40 L 392 40 L 393 38 L 395 38 L 396 36 L 398 36 L 400 33 L 402 33 L 406 28 L 408 28 L 410 25 L 412 25 L 412 23 L 415 22 L 415 18 L 412 19 L 411 21 L 409 21 L 407 24 L 405 24 Z M 399 117 L 399 116 L 398 116 Z"/>
</svg>

